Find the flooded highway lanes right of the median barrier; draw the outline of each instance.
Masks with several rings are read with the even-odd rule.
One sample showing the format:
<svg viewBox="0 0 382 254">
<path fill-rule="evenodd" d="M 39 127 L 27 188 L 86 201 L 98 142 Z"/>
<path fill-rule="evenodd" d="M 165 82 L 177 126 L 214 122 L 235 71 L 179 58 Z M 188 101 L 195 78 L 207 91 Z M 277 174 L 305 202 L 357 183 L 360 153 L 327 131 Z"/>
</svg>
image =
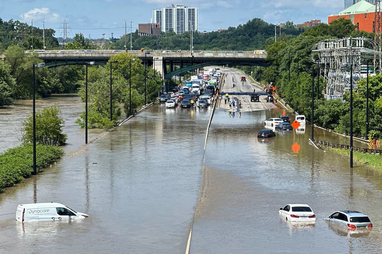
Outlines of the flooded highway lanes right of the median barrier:
<svg viewBox="0 0 382 254">
<path fill-rule="evenodd" d="M 258 139 L 262 121 L 282 113 L 273 109 L 233 118 L 215 111 L 190 253 L 381 252 L 380 172 L 350 170 L 347 158 L 312 148 L 310 125 L 304 134 L 277 131 L 275 138 Z M 315 138 L 348 142 L 320 129 Z M 317 222 L 286 222 L 278 210 L 288 203 L 309 204 Z M 322 220 L 345 209 L 366 213 L 374 228 L 347 231 Z"/>
</svg>

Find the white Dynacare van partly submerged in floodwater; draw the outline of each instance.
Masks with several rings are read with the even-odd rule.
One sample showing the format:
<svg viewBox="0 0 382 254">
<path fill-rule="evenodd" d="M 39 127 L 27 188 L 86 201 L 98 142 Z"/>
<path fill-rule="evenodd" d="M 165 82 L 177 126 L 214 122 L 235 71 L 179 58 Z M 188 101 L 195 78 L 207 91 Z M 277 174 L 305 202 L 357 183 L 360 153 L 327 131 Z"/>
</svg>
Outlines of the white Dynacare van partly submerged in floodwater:
<svg viewBox="0 0 382 254">
<path fill-rule="evenodd" d="M 60 203 L 20 204 L 16 210 L 19 222 L 83 219 L 89 215 L 76 212 Z"/>
</svg>

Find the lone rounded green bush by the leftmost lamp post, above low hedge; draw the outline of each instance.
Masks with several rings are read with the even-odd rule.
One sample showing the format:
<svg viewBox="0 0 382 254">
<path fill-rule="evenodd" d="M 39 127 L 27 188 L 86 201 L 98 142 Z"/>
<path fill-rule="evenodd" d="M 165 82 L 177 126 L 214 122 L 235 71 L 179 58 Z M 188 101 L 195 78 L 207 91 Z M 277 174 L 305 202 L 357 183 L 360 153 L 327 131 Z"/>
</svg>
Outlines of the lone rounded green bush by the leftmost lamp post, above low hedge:
<svg viewBox="0 0 382 254">
<path fill-rule="evenodd" d="M 36 143 L 42 145 L 60 146 L 65 145 L 67 135 L 63 133 L 65 121 L 58 114 L 57 107 L 44 108 L 36 112 Z M 29 114 L 23 122 L 23 143 L 33 141 L 33 115 Z"/>
</svg>

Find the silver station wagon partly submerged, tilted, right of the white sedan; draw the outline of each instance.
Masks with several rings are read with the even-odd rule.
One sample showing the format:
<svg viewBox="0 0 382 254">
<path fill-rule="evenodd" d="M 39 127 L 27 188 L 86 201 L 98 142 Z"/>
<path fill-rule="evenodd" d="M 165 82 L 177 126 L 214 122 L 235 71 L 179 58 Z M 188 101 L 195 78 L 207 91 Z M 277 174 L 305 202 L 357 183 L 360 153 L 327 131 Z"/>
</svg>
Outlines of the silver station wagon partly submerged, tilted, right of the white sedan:
<svg viewBox="0 0 382 254">
<path fill-rule="evenodd" d="M 324 218 L 327 222 L 336 223 L 346 228 L 372 228 L 367 215 L 357 211 L 337 211 L 332 215 Z"/>
</svg>

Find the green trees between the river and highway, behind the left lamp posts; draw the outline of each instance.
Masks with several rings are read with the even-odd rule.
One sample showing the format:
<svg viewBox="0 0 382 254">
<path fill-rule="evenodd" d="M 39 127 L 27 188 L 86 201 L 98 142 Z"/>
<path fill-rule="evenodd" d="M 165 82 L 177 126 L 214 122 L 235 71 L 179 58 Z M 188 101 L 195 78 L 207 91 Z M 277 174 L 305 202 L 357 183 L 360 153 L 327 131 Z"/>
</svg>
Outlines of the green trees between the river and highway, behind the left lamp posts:
<svg viewBox="0 0 382 254">
<path fill-rule="evenodd" d="M 129 84 L 130 84 L 130 59 L 133 56 L 121 53 L 112 56 L 105 66 L 88 67 L 88 128 L 110 129 L 121 116 L 120 103 L 125 104 L 125 113 L 129 113 Z M 112 64 L 112 109 L 113 121 L 110 121 L 110 61 Z M 140 59 L 131 61 L 131 113 L 144 104 L 144 64 Z M 146 68 L 146 102 L 154 100 L 162 87 L 160 74 Z M 85 100 L 85 85 L 81 85 L 79 95 Z M 85 127 L 85 112 L 77 119 L 81 127 Z"/>
</svg>

